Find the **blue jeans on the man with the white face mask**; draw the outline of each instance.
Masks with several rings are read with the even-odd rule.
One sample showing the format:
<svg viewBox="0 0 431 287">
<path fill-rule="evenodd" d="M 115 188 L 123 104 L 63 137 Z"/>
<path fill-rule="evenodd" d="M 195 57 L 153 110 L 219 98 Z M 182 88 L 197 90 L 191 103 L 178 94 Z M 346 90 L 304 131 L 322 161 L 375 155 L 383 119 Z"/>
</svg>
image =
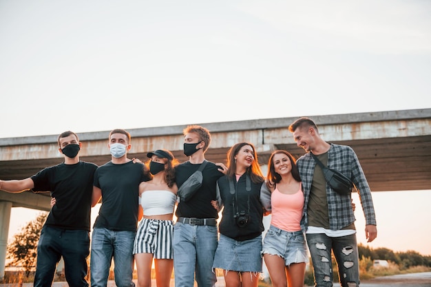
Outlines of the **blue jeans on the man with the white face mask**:
<svg viewBox="0 0 431 287">
<path fill-rule="evenodd" d="M 114 277 L 118 287 L 135 286 L 133 279 L 133 244 L 136 232 L 94 228 L 90 275 L 92 287 L 106 287 L 109 268 L 114 258 Z"/>
</svg>

